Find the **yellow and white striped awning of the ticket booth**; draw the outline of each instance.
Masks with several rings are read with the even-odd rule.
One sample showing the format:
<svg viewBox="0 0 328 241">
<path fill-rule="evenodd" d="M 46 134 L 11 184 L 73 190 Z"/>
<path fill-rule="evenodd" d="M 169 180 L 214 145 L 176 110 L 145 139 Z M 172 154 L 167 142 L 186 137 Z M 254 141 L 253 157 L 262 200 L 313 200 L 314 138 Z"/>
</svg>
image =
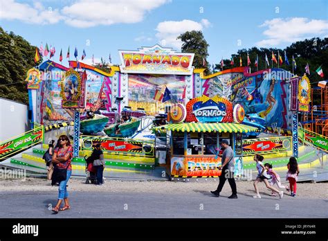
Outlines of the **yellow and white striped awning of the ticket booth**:
<svg viewBox="0 0 328 241">
<path fill-rule="evenodd" d="M 257 131 L 257 127 L 237 123 L 174 123 L 155 127 L 155 130 L 165 128 L 175 132 L 230 132 L 247 133 Z"/>
</svg>

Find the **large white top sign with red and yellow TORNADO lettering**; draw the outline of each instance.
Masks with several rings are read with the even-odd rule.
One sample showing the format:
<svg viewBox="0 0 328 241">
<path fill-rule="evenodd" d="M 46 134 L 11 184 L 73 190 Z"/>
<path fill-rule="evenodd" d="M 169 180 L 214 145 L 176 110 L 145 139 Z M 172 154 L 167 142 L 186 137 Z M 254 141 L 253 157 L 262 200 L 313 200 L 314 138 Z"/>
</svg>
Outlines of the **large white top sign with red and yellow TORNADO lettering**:
<svg viewBox="0 0 328 241">
<path fill-rule="evenodd" d="M 192 74 L 194 53 L 178 53 L 156 44 L 139 51 L 119 51 L 122 73 Z"/>
</svg>

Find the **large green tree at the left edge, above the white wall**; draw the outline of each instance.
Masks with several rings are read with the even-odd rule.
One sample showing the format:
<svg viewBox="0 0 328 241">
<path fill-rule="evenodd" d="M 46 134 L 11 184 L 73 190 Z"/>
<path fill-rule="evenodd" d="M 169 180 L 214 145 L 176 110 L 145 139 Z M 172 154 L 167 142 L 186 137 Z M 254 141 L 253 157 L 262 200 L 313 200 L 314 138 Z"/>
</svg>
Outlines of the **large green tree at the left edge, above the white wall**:
<svg viewBox="0 0 328 241">
<path fill-rule="evenodd" d="M 26 73 L 42 62 L 35 64 L 35 48 L 23 37 L 0 27 L 0 97 L 28 104 Z"/>
</svg>

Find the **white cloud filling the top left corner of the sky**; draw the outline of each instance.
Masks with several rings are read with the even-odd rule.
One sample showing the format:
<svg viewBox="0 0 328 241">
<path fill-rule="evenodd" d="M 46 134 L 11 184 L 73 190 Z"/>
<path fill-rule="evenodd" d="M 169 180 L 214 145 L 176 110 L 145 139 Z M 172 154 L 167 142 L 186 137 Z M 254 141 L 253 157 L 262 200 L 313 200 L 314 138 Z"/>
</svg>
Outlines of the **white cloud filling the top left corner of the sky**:
<svg viewBox="0 0 328 241">
<path fill-rule="evenodd" d="M 19 20 L 28 24 L 55 24 L 64 19 L 58 9 L 45 9 L 39 2 L 33 7 L 14 0 L 0 0 L 0 6 L 0 19 Z"/>
</svg>

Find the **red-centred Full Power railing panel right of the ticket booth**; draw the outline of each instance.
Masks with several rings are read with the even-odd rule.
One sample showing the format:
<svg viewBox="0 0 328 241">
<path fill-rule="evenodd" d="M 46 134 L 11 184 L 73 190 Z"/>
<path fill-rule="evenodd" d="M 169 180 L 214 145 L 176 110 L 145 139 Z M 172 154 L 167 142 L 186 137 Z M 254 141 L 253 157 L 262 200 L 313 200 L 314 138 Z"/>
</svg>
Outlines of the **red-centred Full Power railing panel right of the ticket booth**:
<svg viewBox="0 0 328 241">
<path fill-rule="evenodd" d="M 292 148 L 291 136 L 264 137 L 260 139 L 244 139 L 242 154 L 271 154 L 289 152 Z"/>
</svg>

